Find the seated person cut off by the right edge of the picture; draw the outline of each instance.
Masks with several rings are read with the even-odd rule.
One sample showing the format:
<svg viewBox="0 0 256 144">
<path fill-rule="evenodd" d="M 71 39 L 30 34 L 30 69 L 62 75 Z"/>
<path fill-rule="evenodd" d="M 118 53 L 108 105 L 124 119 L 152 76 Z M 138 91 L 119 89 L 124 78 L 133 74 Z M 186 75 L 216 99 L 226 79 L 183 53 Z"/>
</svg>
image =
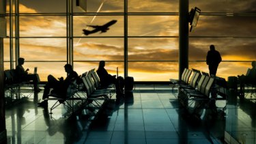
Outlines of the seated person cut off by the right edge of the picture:
<svg viewBox="0 0 256 144">
<path fill-rule="evenodd" d="M 238 81 L 240 83 L 239 94 L 244 96 L 244 85 L 247 84 L 256 84 L 256 61 L 252 61 L 251 66 L 253 68 L 248 69 L 246 75 L 238 75 Z"/>
</svg>

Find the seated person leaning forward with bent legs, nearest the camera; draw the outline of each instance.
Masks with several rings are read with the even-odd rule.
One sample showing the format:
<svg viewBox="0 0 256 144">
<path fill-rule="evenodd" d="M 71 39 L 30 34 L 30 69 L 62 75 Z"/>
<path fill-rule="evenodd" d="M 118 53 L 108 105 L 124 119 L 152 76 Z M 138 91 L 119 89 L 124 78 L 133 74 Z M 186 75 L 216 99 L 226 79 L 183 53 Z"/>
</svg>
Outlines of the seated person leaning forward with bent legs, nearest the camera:
<svg viewBox="0 0 256 144">
<path fill-rule="evenodd" d="M 59 81 L 52 76 L 51 74 L 48 75 L 48 82 L 46 85 L 44 85 L 44 93 L 42 96 L 43 102 L 38 103 L 38 106 L 46 107 L 48 106 L 48 94 L 50 93 L 50 89 L 52 88 L 55 93 L 58 93 L 58 96 L 66 96 L 68 86 L 70 83 L 75 81 L 79 76 L 78 74 L 72 69 L 72 66 L 70 64 L 66 64 L 64 66 L 65 71 L 67 72 L 68 76 L 64 80 L 63 77 L 58 78 Z"/>
</svg>

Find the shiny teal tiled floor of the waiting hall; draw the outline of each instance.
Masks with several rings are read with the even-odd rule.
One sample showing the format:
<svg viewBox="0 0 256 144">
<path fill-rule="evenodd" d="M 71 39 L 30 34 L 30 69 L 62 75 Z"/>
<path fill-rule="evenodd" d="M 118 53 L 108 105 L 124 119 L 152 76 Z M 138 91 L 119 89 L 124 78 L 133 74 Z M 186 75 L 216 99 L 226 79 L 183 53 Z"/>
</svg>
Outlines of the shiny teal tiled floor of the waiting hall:
<svg viewBox="0 0 256 144">
<path fill-rule="evenodd" d="M 96 118 L 85 111 L 63 117 L 62 105 L 50 115 L 49 109 L 37 106 L 42 92 L 24 98 L 5 112 L 8 143 L 224 143 L 225 131 L 240 143 L 256 143 L 253 100 L 239 100 L 231 92 L 223 115 L 195 111 L 195 103 L 186 111 L 177 101 L 177 89 L 165 85 L 136 86 L 132 94 L 113 103 L 111 116 Z"/>
</svg>

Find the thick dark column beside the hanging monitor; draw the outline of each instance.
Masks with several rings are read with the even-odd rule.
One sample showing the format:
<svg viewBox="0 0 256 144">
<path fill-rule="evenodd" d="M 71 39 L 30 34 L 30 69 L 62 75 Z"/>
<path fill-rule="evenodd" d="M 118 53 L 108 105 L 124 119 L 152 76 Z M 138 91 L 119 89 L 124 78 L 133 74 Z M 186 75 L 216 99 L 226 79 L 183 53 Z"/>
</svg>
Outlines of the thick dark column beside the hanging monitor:
<svg viewBox="0 0 256 144">
<path fill-rule="evenodd" d="M 179 15 L 179 79 L 188 68 L 188 0 L 180 0 Z"/>
</svg>

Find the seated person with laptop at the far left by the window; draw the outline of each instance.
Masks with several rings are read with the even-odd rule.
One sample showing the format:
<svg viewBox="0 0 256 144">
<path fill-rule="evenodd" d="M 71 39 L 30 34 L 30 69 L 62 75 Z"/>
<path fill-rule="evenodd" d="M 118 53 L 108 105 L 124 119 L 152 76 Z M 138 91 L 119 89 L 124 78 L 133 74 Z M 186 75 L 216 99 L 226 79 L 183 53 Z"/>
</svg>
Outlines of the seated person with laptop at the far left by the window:
<svg viewBox="0 0 256 144">
<path fill-rule="evenodd" d="M 17 75 L 17 81 L 23 82 L 23 81 L 33 81 L 33 87 L 35 92 L 39 92 L 41 89 L 38 87 L 38 74 L 29 74 L 29 69 L 25 70 L 23 68 L 25 59 L 23 57 L 18 58 L 18 66 L 16 66 L 16 75 Z"/>
</svg>

